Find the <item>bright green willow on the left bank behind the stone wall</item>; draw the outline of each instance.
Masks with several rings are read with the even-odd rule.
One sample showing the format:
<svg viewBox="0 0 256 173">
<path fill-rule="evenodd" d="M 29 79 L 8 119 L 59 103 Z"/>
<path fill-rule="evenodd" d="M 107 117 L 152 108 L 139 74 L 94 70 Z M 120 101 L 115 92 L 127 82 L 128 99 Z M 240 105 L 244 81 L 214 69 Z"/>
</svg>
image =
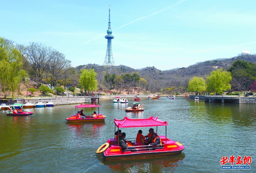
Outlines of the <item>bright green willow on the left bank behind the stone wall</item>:
<svg viewBox="0 0 256 173">
<path fill-rule="evenodd" d="M 83 69 L 81 72 L 82 74 L 79 82 L 82 89 L 84 89 L 84 92 L 86 93 L 86 91 L 90 92 L 96 90 L 98 87 L 96 79 L 97 73 L 94 72 L 94 69 Z"/>
</svg>

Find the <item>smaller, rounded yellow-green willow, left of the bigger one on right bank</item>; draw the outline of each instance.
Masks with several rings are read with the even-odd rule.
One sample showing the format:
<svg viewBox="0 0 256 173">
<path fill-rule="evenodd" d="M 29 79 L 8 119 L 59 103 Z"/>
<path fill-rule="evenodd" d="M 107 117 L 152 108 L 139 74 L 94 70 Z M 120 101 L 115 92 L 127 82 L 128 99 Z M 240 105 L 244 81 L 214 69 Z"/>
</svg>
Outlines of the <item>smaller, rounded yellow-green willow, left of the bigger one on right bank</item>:
<svg viewBox="0 0 256 173">
<path fill-rule="evenodd" d="M 188 81 L 188 92 L 195 92 L 196 95 L 198 92 L 203 92 L 206 90 L 205 80 L 203 78 L 199 78 L 194 76 Z"/>
</svg>

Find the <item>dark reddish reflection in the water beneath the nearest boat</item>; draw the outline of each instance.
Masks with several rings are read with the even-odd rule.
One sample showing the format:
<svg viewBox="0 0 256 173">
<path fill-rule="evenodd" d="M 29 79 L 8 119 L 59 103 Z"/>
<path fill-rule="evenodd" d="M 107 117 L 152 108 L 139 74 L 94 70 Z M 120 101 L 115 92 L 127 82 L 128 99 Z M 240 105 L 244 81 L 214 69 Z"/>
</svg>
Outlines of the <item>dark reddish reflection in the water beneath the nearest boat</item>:
<svg viewBox="0 0 256 173">
<path fill-rule="evenodd" d="M 112 172 L 175 172 L 185 154 L 136 160 L 105 161 Z"/>
</svg>

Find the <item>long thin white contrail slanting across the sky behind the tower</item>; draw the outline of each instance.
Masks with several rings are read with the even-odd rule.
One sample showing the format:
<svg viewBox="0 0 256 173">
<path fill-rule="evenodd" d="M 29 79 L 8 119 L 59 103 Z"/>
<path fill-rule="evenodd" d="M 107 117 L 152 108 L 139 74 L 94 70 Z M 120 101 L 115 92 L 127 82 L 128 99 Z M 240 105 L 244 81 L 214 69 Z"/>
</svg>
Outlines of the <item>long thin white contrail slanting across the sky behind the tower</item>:
<svg viewBox="0 0 256 173">
<path fill-rule="evenodd" d="M 148 15 L 148 16 L 140 17 L 140 18 L 138 18 L 138 19 L 136 19 L 136 20 L 134 20 L 134 21 L 132 21 L 132 22 L 130 22 L 130 23 L 127 23 L 127 24 L 122 25 L 121 27 L 118 27 L 118 28 L 116 28 L 116 29 L 113 29 L 113 31 L 118 30 L 118 29 L 120 29 L 120 28 L 123 28 L 123 27 L 125 27 L 125 26 L 127 26 L 127 25 L 130 25 L 130 24 L 132 24 L 133 22 L 139 21 L 139 20 L 141 20 L 141 19 L 145 19 L 145 18 L 147 18 L 147 17 L 154 16 L 154 15 L 156 15 L 156 14 L 158 14 L 158 13 L 162 13 L 163 11 L 166 11 L 166 10 L 168 10 L 168 9 L 170 9 L 170 8 L 173 8 L 173 7 L 175 7 L 176 5 L 179 5 L 179 4 L 183 3 L 184 1 L 187 1 L 187 0 L 178 1 L 178 2 L 174 3 L 173 5 L 170 5 L 170 6 L 164 8 L 164 9 L 162 9 L 162 10 L 156 11 L 155 13 L 152 13 L 152 14 L 150 14 L 150 15 Z M 79 46 L 77 46 L 77 47 L 75 47 L 75 48 L 72 48 L 72 49 L 70 49 L 70 50 L 64 52 L 64 53 L 67 53 L 67 52 L 72 51 L 72 50 L 74 50 L 74 49 L 76 49 L 76 48 L 78 48 L 78 47 L 81 47 L 81 46 L 83 46 L 83 45 L 85 45 L 85 44 L 88 44 L 88 43 L 90 43 L 90 42 L 93 41 L 93 40 L 97 40 L 97 39 L 100 38 L 102 35 L 104 35 L 104 34 L 100 34 L 100 35 L 98 35 L 97 37 L 95 37 L 94 39 L 88 40 L 86 43 L 83 43 L 83 44 L 81 44 L 81 45 L 79 45 Z"/>
</svg>

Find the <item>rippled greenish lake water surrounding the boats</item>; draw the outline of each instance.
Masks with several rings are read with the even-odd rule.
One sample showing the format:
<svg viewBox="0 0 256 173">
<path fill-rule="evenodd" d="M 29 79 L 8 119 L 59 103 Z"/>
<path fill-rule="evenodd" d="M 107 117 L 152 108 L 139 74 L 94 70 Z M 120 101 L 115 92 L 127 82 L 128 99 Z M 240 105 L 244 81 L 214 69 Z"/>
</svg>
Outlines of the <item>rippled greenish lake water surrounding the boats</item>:
<svg viewBox="0 0 256 173">
<path fill-rule="evenodd" d="M 100 100 L 100 113 L 106 116 L 101 123 L 68 123 L 65 118 L 75 114 L 74 104 L 34 108 L 33 115 L 24 117 L 6 116 L 1 111 L 0 172 L 220 172 L 224 171 L 220 159 L 231 155 L 235 159 L 251 156 L 251 169 L 243 172 L 256 171 L 255 104 L 141 98 L 144 112 L 126 113 L 132 98 L 126 104 L 112 100 Z M 93 111 L 97 108 L 84 109 L 85 114 Z M 183 143 L 185 149 L 168 157 L 104 161 L 96 150 L 114 138 L 114 118 L 125 116 L 157 116 L 167 121 L 167 137 Z M 136 138 L 140 129 L 146 135 L 149 127 L 121 130 L 126 138 Z M 165 135 L 165 126 L 158 127 L 158 135 Z M 240 170 L 226 172 L 231 171 Z"/>
</svg>

